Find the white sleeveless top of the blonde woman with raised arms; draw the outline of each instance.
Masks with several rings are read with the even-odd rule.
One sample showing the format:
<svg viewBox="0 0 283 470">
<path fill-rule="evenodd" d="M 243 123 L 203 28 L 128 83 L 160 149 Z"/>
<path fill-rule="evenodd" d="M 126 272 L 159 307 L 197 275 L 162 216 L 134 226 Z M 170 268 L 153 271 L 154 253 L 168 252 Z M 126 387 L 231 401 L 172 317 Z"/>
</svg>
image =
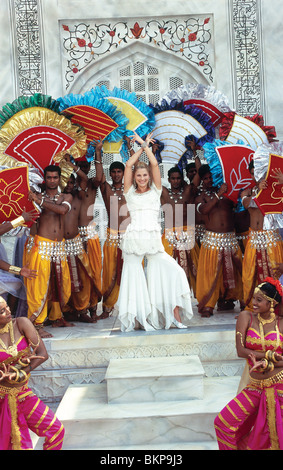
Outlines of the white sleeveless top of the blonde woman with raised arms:
<svg viewBox="0 0 283 470">
<path fill-rule="evenodd" d="M 145 193 L 137 193 L 134 186 L 125 193 L 131 223 L 121 242 L 123 252 L 136 255 L 164 252 L 159 222 L 161 192 L 152 183 Z"/>
</svg>

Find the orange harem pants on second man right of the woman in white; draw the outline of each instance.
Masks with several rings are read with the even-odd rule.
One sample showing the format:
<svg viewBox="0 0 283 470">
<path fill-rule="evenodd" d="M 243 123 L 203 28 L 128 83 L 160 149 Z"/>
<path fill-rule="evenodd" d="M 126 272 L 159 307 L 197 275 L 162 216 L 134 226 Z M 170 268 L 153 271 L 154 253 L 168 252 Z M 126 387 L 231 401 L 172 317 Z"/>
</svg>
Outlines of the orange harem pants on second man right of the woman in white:
<svg viewBox="0 0 283 470">
<path fill-rule="evenodd" d="M 242 300 L 242 251 L 235 233 L 206 231 L 198 259 L 198 310 L 214 308 L 219 297 Z"/>
</svg>

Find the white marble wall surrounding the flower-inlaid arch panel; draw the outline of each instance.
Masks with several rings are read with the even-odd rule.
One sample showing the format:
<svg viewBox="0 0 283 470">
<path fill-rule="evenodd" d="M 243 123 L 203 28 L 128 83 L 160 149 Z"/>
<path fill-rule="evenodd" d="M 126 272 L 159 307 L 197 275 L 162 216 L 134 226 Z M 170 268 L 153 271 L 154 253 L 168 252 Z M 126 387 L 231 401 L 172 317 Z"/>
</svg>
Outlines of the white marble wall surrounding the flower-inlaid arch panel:
<svg viewBox="0 0 283 470">
<path fill-rule="evenodd" d="M 281 51 L 282 28 L 280 0 L 1 0 L 0 2 L 0 106 L 11 102 L 26 89 L 23 75 L 33 88 L 54 98 L 66 93 L 64 79 L 64 51 L 62 46 L 62 24 L 64 22 L 87 24 L 104 20 L 134 22 L 154 18 L 202 16 L 210 18 L 212 38 L 209 44 L 210 63 L 213 64 L 213 85 L 224 93 L 231 107 L 245 107 L 245 100 L 255 94 L 257 112 L 264 115 L 266 125 L 275 125 L 279 139 L 283 135 L 281 120 Z M 253 11 L 254 10 L 254 11 Z M 28 37 L 25 16 L 29 18 L 35 34 Z M 237 64 L 235 41 L 237 31 L 245 24 L 250 28 L 250 38 L 256 45 L 254 51 L 245 50 Z M 38 32 L 38 36 L 36 33 Z M 141 41 L 136 41 L 141 45 Z M 27 54 L 27 50 L 29 53 Z M 120 49 L 119 49 L 120 51 Z M 158 51 L 152 50 L 156 60 Z M 118 53 L 118 51 L 117 51 Z M 137 54 L 140 54 L 137 49 Z M 242 60 L 243 59 L 243 60 Z M 117 59 L 118 60 L 118 59 Z M 246 61 L 246 63 L 245 63 Z M 32 64 L 33 62 L 33 64 Z M 119 60 L 118 60 L 119 62 Z M 177 62 L 177 61 L 176 61 Z M 185 61 L 184 61 L 185 62 Z M 181 62 L 179 61 L 179 64 Z M 97 61 L 97 70 L 105 63 Z M 183 64 L 184 75 L 190 74 Z M 96 64 L 95 64 L 96 66 Z M 175 63 L 174 63 L 175 66 Z M 237 68 L 238 67 L 238 68 Z M 259 68 L 259 77 L 253 72 Z M 95 67 L 93 67 L 95 70 Z M 26 73 L 26 74 L 25 74 Z M 247 76 L 250 88 L 239 85 L 241 74 Z M 87 76 L 79 77 L 74 90 L 83 89 Z M 197 79 L 198 75 L 193 76 Z M 205 80 L 204 80 L 205 81 Z M 258 82 L 259 81 L 259 86 Z M 248 106 L 248 105 L 247 105 Z M 251 110 L 254 113 L 254 108 Z"/>
</svg>

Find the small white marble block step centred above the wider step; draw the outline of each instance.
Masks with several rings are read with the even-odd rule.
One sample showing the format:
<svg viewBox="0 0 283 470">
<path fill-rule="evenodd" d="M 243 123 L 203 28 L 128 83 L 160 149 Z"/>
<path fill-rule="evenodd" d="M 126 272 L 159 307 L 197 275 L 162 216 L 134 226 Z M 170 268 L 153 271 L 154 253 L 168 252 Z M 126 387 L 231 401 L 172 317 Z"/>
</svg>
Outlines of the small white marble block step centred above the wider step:
<svg viewBox="0 0 283 470">
<path fill-rule="evenodd" d="M 111 359 L 107 398 L 109 403 L 201 399 L 203 377 L 198 356 Z"/>
</svg>

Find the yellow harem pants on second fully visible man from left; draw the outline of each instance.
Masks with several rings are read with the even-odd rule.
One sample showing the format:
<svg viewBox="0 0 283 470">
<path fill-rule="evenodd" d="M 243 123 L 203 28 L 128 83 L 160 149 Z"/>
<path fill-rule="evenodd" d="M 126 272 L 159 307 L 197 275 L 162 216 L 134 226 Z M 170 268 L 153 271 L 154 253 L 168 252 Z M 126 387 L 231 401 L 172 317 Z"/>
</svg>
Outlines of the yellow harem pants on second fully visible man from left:
<svg viewBox="0 0 283 470">
<path fill-rule="evenodd" d="M 72 294 L 68 302 L 82 312 L 97 305 L 101 299 L 101 250 L 99 240 L 89 240 L 86 253 L 80 235 L 66 240 L 66 254 L 71 276 Z M 92 263 L 90 262 L 92 259 Z M 96 267 L 94 272 L 93 267 Z M 68 306 L 64 311 L 68 311 Z"/>
</svg>

